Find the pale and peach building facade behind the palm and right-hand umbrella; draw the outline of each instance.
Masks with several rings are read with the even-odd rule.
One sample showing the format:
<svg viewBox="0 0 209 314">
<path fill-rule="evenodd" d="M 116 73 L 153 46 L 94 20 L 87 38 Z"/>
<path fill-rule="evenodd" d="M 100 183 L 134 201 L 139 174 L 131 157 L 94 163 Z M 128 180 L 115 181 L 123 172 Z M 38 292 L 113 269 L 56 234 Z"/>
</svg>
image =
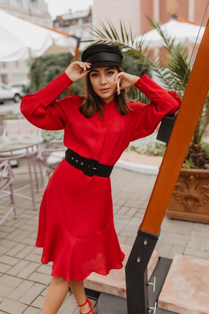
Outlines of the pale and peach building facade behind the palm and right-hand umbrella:
<svg viewBox="0 0 209 314">
<path fill-rule="evenodd" d="M 170 20 L 171 15 L 201 24 L 208 0 L 93 0 L 93 25 L 100 28 L 102 21 L 107 25 L 111 21 L 120 32 L 120 20 L 125 26 L 131 26 L 133 35 L 139 36 L 152 29 L 146 16 L 154 18 L 160 24 Z M 203 20 L 206 25 L 209 9 Z"/>
</svg>

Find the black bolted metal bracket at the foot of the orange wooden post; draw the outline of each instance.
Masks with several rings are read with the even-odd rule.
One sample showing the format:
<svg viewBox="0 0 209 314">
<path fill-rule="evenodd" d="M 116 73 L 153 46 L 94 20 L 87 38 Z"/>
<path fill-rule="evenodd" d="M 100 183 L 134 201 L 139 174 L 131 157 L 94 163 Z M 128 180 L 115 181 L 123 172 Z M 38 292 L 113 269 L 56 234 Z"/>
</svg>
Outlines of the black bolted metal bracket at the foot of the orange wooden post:
<svg viewBox="0 0 209 314">
<path fill-rule="evenodd" d="M 159 232 L 160 234 L 160 232 Z M 138 230 L 125 266 L 128 314 L 151 314 L 153 304 L 149 305 L 147 265 L 159 238 L 151 233 Z"/>
</svg>

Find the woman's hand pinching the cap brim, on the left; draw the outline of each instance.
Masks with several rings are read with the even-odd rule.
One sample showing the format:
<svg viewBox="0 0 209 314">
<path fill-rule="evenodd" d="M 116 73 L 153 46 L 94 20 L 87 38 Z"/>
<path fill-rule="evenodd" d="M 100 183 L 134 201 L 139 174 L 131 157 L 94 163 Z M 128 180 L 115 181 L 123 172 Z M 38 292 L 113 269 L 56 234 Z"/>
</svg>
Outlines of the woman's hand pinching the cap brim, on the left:
<svg viewBox="0 0 209 314">
<path fill-rule="evenodd" d="M 75 61 L 67 67 L 65 73 L 68 75 L 71 81 L 76 82 L 87 75 L 87 73 L 90 71 L 90 65 L 91 63 L 88 62 Z"/>
</svg>

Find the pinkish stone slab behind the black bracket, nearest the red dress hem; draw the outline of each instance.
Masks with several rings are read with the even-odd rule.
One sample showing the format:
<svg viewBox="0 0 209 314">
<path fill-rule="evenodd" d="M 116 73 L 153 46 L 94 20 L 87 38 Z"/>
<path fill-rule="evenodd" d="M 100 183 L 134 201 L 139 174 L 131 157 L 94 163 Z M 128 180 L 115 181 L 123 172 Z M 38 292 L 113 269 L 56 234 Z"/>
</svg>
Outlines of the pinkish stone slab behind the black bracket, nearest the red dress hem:
<svg viewBox="0 0 209 314">
<path fill-rule="evenodd" d="M 121 250 L 125 253 L 125 259 L 122 262 L 121 269 L 111 269 L 106 276 L 92 272 L 88 278 L 84 280 L 85 288 L 106 292 L 126 298 L 126 282 L 125 282 L 125 265 L 130 255 L 132 246 L 120 244 Z M 148 264 L 148 278 L 150 278 L 158 263 L 158 252 L 154 251 Z"/>
</svg>

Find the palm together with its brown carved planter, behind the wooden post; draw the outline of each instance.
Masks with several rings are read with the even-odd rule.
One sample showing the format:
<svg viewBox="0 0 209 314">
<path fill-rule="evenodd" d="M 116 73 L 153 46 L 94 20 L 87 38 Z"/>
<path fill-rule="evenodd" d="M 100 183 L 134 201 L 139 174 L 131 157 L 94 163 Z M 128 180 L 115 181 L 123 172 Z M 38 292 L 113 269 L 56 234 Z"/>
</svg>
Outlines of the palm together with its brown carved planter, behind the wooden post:
<svg viewBox="0 0 209 314">
<path fill-rule="evenodd" d="M 123 49 L 131 62 L 140 65 L 141 75 L 144 71 L 154 72 L 166 90 L 175 90 L 182 98 L 192 68 L 189 56 L 181 45 L 174 46 L 174 39 L 167 37 L 158 23 L 148 18 L 152 26 L 159 32 L 164 42 L 166 54 L 164 60 L 159 56 L 150 58 L 148 47 L 142 49 L 143 39 L 137 42 L 131 30 L 128 32 L 124 24 L 120 23 L 121 32 L 118 34 L 114 26 L 107 22 L 102 23 L 102 31 L 92 27 L 90 33 L 96 37 L 93 44 L 117 44 Z M 129 59 L 130 64 L 130 59 Z M 128 71 L 127 71 L 128 72 Z M 149 100 L 138 90 L 131 88 L 128 97 L 147 103 Z M 203 141 L 203 134 L 209 123 L 209 95 L 207 96 L 199 116 L 191 143 L 172 197 L 167 209 L 167 216 L 175 219 L 209 223 L 209 162 L 208 144 Z"/>
</svg>

